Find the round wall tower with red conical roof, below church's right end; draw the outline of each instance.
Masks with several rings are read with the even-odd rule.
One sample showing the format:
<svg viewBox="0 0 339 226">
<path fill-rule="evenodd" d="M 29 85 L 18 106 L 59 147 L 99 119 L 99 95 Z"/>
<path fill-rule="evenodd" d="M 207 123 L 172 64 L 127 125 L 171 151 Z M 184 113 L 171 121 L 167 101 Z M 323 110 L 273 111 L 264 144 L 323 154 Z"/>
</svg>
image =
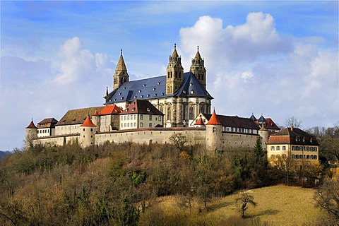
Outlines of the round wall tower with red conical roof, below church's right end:
<svg viewBox="0 0 339 226">
<path fill-rule="evenodd" d="M 222 150 L 222 124 L 215 110 L 206 124 L 206 150 Z"/>
</svg>

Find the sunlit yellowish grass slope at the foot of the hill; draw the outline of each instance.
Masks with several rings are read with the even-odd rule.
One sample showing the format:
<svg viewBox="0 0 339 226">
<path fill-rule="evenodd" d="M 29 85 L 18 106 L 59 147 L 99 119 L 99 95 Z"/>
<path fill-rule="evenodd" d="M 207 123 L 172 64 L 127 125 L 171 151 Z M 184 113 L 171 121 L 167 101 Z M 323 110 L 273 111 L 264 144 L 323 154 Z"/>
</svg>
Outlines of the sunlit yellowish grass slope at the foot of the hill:
<svg viewBox="0 0 339 226">
<path fill-rule="evenodd" d="M 270 186 L 261 189 L 252 189 L 251 196 L 258 204 L 249 206 L 246 210 L 244 221 L 253 222 L 256 218 L 260 222 L 268 222 L 268 225 L 309 225 L 314 223 L 321 211 L 314 207 L 314 189 L 303 189 L 295 186 Z M 232 194 L 225 198 L 215 198 L 208 204 L 208 213 L 198 213 L 203 209 L 203 205 L 194 202 L 194 206 L 189 210 L 177 207 L 177 197 L 165 197 L 160 201 L 160 206 L 167 214 L 182 213 L 205 222 L 222 222 L 222 219 L 231 216 L 240 216 L 240 203 L 236 204 L 235 199 L 239 194 Z M 183 213 L 184 212 L 184 213 Z M 246 224 L 245 224 L 246 225 Z"/>
</svg>

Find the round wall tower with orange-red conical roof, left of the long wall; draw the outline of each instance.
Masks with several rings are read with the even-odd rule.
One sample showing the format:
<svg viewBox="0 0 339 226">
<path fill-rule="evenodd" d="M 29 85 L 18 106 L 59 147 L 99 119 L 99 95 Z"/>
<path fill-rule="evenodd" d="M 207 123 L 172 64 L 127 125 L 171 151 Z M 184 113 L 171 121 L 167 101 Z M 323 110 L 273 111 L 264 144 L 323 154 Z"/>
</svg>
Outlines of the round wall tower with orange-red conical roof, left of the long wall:
<svg viewBox="0 0 339 226">
<path fill-rule="evenodd" d="M 90 115 L 80 126 L 80 144 L 83 148 L 93 145 L 95 142 L 95 128 L 97 126 L 90 120 Z"/>
</svg>

